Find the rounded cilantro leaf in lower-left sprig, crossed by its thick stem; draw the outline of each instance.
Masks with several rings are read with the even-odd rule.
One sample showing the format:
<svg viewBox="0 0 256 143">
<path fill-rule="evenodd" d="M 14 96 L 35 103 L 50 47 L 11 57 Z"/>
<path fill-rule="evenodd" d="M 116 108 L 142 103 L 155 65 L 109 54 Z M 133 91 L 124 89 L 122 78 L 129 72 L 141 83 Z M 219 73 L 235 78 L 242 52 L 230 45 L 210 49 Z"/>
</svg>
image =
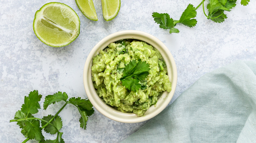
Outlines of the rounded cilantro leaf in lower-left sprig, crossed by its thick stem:
<svg viewBox="0 0 256 143">
<path fill-rule="evenodd" d="M 44 116 L 43 119 L 46 120 L 46 121 L 50 121 L 51 119 L 53 118 L 53 115 L 48 115 L 48 116 Z M 44 126 L 46 124 L 46 122 L 44 121 L 41 121 L 42 123 L 42 126 Z M 59 116 L 56 116 L 52 122 L 51 122 L 58 130 L 60 130 L 62 128 L 62 121 L 61 121 L 61 118 Z M 57 133 L 57 130 L 52 126 L 52 125 L 47 125 L 45 128 L 44 128 L 44 131 L 46 133 L 50 133 L 50 134 L 56 134 Z"/>
</svg>

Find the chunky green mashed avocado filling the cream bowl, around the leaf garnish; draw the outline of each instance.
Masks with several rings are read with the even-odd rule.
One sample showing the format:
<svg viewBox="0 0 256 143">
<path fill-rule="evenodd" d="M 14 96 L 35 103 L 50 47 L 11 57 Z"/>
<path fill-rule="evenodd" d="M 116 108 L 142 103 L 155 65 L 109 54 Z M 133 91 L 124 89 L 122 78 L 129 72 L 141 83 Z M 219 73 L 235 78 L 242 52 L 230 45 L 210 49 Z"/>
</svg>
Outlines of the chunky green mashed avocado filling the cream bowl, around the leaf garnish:
<svg viewBox="0 0 256 143">
<path fill-rule="evenodd" d="M 140 81 L 141 88 L 136 92 L 126 89 L 120 81 L 125 65 L 134 59 L 150 64 L 149 75 Z M 133 112 L 138 116 L 156 104 L 163 91 L 171 91 L 160 52 L 138 40 L 120 40 L 99 51 L 93 57 L 92 80 L 97 94 L 105 103 L 121 112 Z"/>
</svg>

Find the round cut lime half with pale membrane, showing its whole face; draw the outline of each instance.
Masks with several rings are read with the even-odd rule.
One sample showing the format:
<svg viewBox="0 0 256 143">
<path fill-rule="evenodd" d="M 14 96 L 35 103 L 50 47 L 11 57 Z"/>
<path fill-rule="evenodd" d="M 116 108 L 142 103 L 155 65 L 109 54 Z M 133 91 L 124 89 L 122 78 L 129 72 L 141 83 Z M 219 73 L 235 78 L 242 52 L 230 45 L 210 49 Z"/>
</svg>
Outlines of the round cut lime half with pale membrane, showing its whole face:
<svg viewBox="0 0 256 143">
<path fill-rule="evenodd" d="M 69 6 L 51 2 L 35 13 L 33 30 L 39 40 L 52 47 L 63 47 L 79 35 L 80 20 Z"/>
</svg>

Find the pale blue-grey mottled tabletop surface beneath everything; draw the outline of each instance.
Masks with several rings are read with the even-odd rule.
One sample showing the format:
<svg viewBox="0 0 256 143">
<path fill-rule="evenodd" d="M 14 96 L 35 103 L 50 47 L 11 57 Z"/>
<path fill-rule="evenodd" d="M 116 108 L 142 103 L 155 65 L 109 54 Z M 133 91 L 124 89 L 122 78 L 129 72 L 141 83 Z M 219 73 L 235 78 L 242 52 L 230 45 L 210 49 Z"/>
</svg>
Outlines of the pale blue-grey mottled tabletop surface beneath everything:
<svg viewBox="0 0 256 143">
<path fill-rule="evenodd" d="M 57 91 L 67 92 L 69 97 L 86 98 L 83 87 L 85 60 L 98 41 L 117 31 L 144 31 L 168 47 L 178 70 L 178 84 L 171 103 L 206 72 L 235 60 L 256 61 L 255 1 L 244 7 L 238 0 L 222 24 L 207 20 L 200 7 L 196 17 L 198 24 L 194 28 L 177 25 L 181 32 L 169 34 L 154 22 L 152 12 L 167 12 L 179 19 L 189 3 L 197 6 L 200 0 L 121 0 L 117 17 L 109 22 L 102 17 L 100 0 L 94 0 L 96 22 L 80 12 L 75 0 L 56 0 L 73 8 L 81 21 L 79 37 L 61 48 L 43 44 L 33 32 L 34 14 L 48 2 L 53 1 L 0 1 L 0 142 L 16 143 L 25 139 L 16 123 L 9 121 L 30 91 L 38 90 L 43 98 Z M 43 101 L 40 104 L 42 106 Z M 62 103 L 50 105 L 35 116 L 55 114 L 61 106 Z M 83 130 L 79 127 L 79 113 L 74 106 L 67 105 L 59 115 L 63 119 L 61 131 L 66 143 L 119 142 L 147 122 L 120 123 L 96 110 L 89 117 L 87 130 Z M 55 135 L 43 135 L 55 138 Z"/>
</svg>

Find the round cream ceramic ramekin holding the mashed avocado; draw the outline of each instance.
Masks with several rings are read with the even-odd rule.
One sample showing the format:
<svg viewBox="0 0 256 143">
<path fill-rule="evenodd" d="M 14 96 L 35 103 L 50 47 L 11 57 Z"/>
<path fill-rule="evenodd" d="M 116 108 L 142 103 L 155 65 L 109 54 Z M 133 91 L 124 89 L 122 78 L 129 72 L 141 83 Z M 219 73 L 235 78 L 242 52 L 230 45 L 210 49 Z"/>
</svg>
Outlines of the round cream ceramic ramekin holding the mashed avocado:
<svg viewBox="0 0 256 143">
<path fill-rule="evenodd" d="M 147 42 L 152 45 L 156 49 L 158 49 L 165 60 L 167 73 L 170 81 L 172 82 L 172 90 L 171 92 L 163 92 L 159 97 L 156 105 L 151 106 L 143 116 L 138 117 L 134 113 L 122 113 L 111 106 L 107 105 L 102 101 L 101 98 L 97 95 L 95 88 L 93 86 L 92 74 L 91 74 L 91 66 L 92 66 L 92 58 L 99 53 L 99 50 L 106 48 L 109 43 L 115 42 L 122 39 L 136 39 Z M 84 65 L 84 73 L 83 73 L 83 82 L 86 94 L 93 104 L 93 106 L 106 117 L 124 123 L 136 123 L 142 122 L 148 119 L 153 118 L 157 114 L 159 114 L 167 105 L 170 103 L 175 88 L 177 85 L 177 68 L 175 61 L 173 59 L 172 54 L 167 49 L 167 47 L 156 37 L 141 31 L 136 30 L 126 30 L 113 33 L 104 39 L 100 40 L 92 49 L 90 54 L 88 55 L 85 65 Z"/>
</svg>

